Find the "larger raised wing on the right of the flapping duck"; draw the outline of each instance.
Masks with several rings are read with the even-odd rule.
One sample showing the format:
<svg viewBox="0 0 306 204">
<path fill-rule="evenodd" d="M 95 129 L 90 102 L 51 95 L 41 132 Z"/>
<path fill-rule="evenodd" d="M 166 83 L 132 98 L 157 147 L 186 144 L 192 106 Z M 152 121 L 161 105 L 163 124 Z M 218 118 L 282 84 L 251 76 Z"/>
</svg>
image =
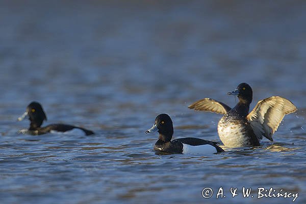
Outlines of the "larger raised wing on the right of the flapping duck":
<svg viewBox="0 0 306 204">
<path fill-rule="evenodd" d="M 272 135 L 277 130 L 286 114 L 293 113 L 297 108 L 286 98 L 272 96 L 261 100 L 256 107 L 246 116 L 255 135 L 262 139 L 263 136 L 273 141 Z"/>
</svg>

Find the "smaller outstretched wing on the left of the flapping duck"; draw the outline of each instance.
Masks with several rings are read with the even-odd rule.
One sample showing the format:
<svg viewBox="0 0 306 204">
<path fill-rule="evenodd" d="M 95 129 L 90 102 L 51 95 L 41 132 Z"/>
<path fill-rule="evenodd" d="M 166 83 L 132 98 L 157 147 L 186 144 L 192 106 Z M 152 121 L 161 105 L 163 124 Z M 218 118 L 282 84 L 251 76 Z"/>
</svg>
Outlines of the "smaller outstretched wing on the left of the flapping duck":
<svg viewBox="0 0 306 204">
<path fill-rule="evenodd" d="M 231 108 L 228 107 L 227 105 L 212 98 L 204 98 L 198 100 L 193 104 L 191 104 L 190 106 L 188 106 L 188 108 L 197 111 L 210 111 L 219 114 L 226 114 L 228 111 L 231 110 Z"/>
</svg>

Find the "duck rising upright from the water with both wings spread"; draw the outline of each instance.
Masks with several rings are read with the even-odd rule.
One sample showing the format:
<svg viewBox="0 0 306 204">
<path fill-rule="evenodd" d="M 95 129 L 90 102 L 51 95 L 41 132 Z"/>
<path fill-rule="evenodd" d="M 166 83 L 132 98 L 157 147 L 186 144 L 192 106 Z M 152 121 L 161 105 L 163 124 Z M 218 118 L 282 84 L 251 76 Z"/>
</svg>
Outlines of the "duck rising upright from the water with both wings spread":
<svg viewBox="0 0 306 204">
<path fill-rule="evenodd" d="M 263 137 L 273 141 L 272 135 L 285 115 L 297 110 L 290 100 L 271 96 L 260 100 L 249 112 L 253 92 L 247 83 L 239 84 L 227 94 L 238 97 L 238 104 L 234 108 L 212 98 L 198 100 L 188 108 L 223 114 L 218 122 L 218 135 L 223 144 L 229 147 L 260 146 Z"/>
</svg>

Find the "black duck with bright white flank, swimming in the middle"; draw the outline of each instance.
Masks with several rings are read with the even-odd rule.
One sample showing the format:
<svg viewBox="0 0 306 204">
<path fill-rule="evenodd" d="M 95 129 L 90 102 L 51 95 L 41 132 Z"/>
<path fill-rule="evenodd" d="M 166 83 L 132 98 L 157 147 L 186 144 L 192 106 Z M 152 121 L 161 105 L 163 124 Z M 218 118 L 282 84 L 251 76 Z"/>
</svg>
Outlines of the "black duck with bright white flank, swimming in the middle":
<svg viewBox="0 0 306 204">
<path fill-rule="evenodd" d="M 163 113 L 156 117 L 154 125 L 145 133 L 159 132 L 154 150 L 173 154 L 214 154 L 224 151 L 217 142 L 198 138 L 179 138 L 172 140 L 173 123 L 169 115 Z"/>
</svg>

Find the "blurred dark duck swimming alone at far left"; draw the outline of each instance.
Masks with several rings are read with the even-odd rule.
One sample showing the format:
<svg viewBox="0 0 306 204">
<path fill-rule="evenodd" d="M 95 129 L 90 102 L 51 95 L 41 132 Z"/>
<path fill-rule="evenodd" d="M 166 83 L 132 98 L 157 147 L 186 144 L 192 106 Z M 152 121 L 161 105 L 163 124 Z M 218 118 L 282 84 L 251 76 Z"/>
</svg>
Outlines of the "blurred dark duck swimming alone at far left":
<svg viewBox="0 0 306 204">
<path fill-rule="evenodd" d="M 67 133 L 68 131 L 81 130 L 85 135 L 93 135 L 94 132 L 84 129 L 83 127 L 78 127 L 69 124 L 49 124 L 47 126 L 41 127 L 44 120 L 47 120 L 47 116 L 41 106 L 37 101 L 32 101 L 27 110 L 22 116 L 18 118 L 18 121 L 28 118 L 30 120 L 30 127 L 28 130 L 21 130 L 20 133 L 28 133 L 30 135 L 43 135 L 50 132 L 60 132 Z"/>
</svg>

